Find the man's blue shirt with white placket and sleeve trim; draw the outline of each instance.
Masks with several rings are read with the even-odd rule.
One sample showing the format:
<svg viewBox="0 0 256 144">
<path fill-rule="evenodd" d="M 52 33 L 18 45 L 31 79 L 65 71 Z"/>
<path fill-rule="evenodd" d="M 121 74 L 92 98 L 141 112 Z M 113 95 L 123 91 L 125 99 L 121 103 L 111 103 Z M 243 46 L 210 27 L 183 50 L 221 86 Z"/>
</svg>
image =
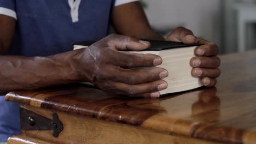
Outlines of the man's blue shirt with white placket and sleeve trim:
<svg viewBox="0 0 256 144">
<path fill-rule="evenodd" d="M 0 14 L 17 20 L 9 55 L 49 56 L 71 51 L 75 41 L 106 37 L 113 4 L 114 0 L 0 0 Z M 20 133 L 18 104 L 0 97 L 0 118 L 0 141 Z"/>
</svg>

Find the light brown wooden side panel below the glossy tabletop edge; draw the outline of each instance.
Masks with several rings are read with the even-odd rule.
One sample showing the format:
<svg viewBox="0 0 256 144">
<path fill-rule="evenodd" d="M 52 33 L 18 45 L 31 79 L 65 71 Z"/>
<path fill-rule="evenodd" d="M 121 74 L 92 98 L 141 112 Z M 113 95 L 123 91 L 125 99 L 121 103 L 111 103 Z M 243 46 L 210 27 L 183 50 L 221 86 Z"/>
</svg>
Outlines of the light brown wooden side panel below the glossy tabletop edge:
<svg viewBox="0 0 256 144">
<path fill-rule="evenodd" d="M 27 136 L 61 144 L 217 144 L 217 142 L 185 136 L 172 136 L 164 131 L 159 133 L 155 130 L 107 122 L 82 115 L 41 109 L 29 105 L 21 105 L 21 107 L 48 118 L 52 118 L 53 112 L 56 112 L 64 125 L 64 129 L 58 137 L 53 137 L 52 130 L 24 130 L 22 133 Z"/>
</svg>

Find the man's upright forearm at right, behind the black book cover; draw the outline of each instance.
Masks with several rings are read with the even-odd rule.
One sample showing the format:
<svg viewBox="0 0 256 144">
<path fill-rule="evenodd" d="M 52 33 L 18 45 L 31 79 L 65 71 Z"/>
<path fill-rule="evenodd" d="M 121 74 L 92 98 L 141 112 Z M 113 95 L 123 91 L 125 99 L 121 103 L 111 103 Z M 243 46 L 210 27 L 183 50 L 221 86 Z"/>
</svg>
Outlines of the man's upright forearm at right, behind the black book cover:
<svg viewBox="0 0 256 144">
<path fill-rule="evenodd" d="M 161 35 L 150 27 L 139 2 L 115 7 L 112 22 L 119 34 L 131 35 L 140 39 L 164 40 Z"/>
</svg>

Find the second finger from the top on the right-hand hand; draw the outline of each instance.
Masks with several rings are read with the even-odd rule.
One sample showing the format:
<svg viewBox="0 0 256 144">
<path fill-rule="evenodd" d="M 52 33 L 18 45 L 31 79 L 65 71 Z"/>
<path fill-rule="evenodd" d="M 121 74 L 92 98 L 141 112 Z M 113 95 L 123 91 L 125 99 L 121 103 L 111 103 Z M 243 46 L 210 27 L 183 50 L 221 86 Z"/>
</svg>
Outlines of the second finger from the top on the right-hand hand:
<svg viewBox="0 0 256 144">
<path fill-rule="evenodd" d="M 193 57 L 190 59 L 190 65 L 195 68 L 218 68 L 220 59 L 219 57 Z"/>
</svg>

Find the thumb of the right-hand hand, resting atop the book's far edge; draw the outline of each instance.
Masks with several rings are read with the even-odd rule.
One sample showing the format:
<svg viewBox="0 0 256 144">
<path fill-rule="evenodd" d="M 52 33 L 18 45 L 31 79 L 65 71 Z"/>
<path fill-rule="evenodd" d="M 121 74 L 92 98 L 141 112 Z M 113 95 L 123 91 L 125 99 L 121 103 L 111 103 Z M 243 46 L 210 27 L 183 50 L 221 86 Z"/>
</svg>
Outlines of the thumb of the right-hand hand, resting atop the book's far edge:
<svg viewBox="0 0 256 144">
<path fill-rule="evenodd" d="M 166 40 L 183 42 L 184 44 L 195 44 L 196 37 L 193 32 L 184 27 L 178 27 L 166 38 Z"/>
</svg>

